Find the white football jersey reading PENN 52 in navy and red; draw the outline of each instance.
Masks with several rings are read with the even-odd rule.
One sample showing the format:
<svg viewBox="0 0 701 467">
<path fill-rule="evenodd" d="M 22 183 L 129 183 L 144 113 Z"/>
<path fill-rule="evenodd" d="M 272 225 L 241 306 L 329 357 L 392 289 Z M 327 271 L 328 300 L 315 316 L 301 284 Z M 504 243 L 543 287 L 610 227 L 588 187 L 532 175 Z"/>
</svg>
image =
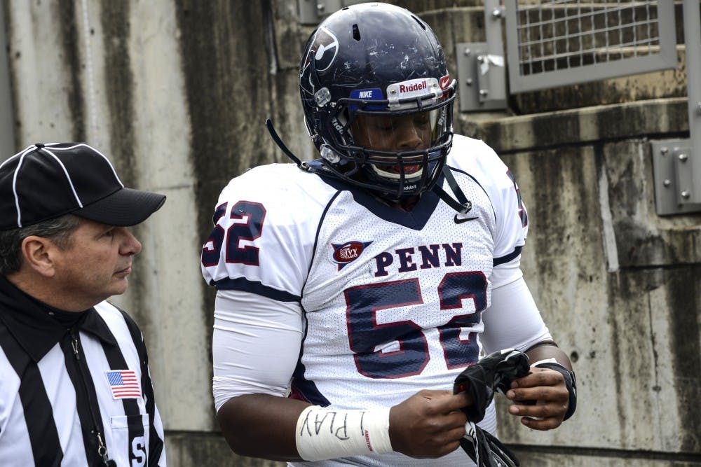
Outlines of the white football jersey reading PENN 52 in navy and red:
<svg viewBox="0 0 701 467">
<path fill-rule="evenodd" d="M 390 407 L 421 389 L 452 389 L 477 361 L 492 270 L 519 256 L 526 212 L 508 168 L 482 141 L 456 135 L 447 165 L 472 204 L 465 214 L 433 192 L 400 211 L 292 164 L 251 169 L 224 188 L 203 275 L 220 291 L 299 303 L 304 337 L 290 397 Z M 490 410 L 483 424 L 494 431 L 495 423 Z M 346 461 L 425 463 L 396 453 Z M 431 465 L 468 461 L 458 449 Z"/>
</svg>

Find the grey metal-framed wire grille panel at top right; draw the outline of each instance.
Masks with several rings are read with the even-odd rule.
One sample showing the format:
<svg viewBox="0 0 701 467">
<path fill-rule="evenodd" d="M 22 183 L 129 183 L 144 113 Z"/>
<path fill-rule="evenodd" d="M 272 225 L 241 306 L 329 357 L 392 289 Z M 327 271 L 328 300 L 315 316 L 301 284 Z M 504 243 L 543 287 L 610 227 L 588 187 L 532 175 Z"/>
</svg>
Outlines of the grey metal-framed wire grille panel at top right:
<svg viewBox="0 0 701 467">
<path fill-rule="evenodd" d="M 674 69 L 674 2 L 506 0 L 512 92 Z"/>
</svg>

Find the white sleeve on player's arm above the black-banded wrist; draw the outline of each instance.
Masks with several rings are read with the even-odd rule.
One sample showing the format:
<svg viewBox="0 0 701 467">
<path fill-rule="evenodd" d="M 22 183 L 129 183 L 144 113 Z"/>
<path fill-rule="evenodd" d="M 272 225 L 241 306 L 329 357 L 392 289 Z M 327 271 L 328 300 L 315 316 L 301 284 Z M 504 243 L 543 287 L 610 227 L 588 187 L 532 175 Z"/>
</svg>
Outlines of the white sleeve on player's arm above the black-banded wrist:
<svg viewBox="0 0 701 467">
<path fill-rule="evenodd" d="M 526 286 L 520 263 L 519 257 L 492 272 L 491 305 L 482 314 L 484 332 L 479 337 L 486 354 L 511 348 L 525 351 L 552 338 Z"/>
</svg>

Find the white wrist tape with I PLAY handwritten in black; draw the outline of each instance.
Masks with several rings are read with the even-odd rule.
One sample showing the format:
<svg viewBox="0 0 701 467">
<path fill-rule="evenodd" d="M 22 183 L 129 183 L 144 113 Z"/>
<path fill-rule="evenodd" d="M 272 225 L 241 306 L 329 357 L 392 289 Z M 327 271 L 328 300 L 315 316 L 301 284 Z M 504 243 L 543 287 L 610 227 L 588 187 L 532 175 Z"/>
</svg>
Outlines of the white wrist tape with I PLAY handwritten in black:
<svg viewBox="0 0 701 467">
<path fill-rule="evenodd" d="M 305 461 L 392 452 L 390 410 L 306 407 L 297 419 L 297 452 Z"/>
</svg>

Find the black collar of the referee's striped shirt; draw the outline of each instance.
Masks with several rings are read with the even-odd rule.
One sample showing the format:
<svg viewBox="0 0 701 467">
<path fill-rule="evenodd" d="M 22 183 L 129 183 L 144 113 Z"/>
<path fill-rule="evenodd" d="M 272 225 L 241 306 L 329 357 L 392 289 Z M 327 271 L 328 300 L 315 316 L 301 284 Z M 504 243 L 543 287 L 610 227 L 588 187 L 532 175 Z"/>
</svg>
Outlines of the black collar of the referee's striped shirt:
<svg viewBox="0 0 701 467">
<path fill-rule="evenodd" d="M 49 316 L 51 309 L 0 275 L 0 321 L 35 362 L 39 362 L 67 333 L 67 328 Z M 117 343 L 95 308 L 86 311 L 78 326 L 107 344 Z"/>
</svg>

